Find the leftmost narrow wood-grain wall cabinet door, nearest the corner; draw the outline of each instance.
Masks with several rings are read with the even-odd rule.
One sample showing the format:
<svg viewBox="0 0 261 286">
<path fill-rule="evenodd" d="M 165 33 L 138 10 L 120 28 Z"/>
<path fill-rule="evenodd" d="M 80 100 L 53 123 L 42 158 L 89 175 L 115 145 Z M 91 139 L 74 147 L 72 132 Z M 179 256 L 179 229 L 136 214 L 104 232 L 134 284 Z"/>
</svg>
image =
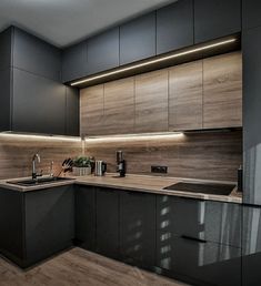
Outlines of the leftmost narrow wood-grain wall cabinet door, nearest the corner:
<svg viewBox="0 0 261 286">
<path fill-rule="evenodd" d="M 83 89 L 80 92 L 81 135 L 102 135 L 103 131 L 103 84 Z"/>
</svg>

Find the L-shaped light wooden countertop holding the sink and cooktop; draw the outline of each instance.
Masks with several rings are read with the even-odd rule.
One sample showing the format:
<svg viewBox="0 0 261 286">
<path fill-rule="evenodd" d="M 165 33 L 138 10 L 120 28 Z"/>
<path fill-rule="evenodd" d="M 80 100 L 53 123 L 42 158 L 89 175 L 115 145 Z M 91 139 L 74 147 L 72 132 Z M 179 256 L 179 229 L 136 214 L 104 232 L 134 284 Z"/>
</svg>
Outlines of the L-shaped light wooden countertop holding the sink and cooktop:
<svg viewBox="0 0 261 286">
<path fill-rule="evenodd" d="M 2 180 L 0 181 L 0 187 L 20 191 L 20 192 L 30 192 L 37 190 L 43 190 L 53 186 L 61 185 L 70 185 L 70 184 L 79 184 L 79 185 L 91 185 L 91 186 L 101 186 L 101 187 L 111 187 L 118 190 L 127 190 L 133 192 L 147 192 L 154 194 L 165 194 L 165 195 L 174 195 L 181 197 L 192 197 L 198 200 L 209 200 L 209 201 L 218 201 L 218 202 L 230 202 L 230 203 L 242 203 L 242 194 L 237 193 L 237 190 L 230 195 L 212 195 L 212 194 L 203 194 L 203 193 L 189 193 L 182 191 L 169 191 L 163 190 L 165 186 L 179 183 L 179 182 L 197 182 L 197 183 L 222 183 L 222 184 L 231 184 L 234 182 L 217 182 L 217 181 L 205 181 L 205 180 L 190 180 L 182 177 L 167 177 L 167 176 L 151 176 L 151 175 L 134 175 L 128 174 L 126 177 L 118 177 L 117 174 L 106 174 L 104 176 L 78 176 L 72 177 L 71 181 L 62 181 L 62 182 L 53 182 L 43 185 L 36 186 L 20 186 L 10 184 L 8 182 L 18 181 L 22 178 L 12 178 L 12 180 Z"/>
</svg>

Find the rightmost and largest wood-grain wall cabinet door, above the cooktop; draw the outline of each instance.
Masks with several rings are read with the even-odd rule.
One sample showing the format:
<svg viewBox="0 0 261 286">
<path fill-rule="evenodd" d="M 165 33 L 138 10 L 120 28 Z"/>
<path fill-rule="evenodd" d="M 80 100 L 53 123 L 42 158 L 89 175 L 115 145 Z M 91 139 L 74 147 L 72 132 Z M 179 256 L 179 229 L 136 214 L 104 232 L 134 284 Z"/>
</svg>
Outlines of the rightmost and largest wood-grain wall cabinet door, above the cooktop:
<svg viewBox="0 0 261 286">
<path fill-rule="evenodd" d="M 242 55 L 203 60 L 203 127 L 242 126 Z"/>
</svg>

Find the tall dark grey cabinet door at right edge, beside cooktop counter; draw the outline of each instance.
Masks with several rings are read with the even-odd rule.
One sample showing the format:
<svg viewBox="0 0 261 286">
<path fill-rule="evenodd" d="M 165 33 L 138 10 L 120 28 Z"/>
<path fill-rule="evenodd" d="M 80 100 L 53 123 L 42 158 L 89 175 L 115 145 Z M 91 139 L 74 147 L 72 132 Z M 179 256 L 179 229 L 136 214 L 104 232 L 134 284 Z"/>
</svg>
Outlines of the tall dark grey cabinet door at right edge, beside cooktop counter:
<svg viewBox="0 0 261 286">
<path fill-rule="evenodd" d="M 261 27 L 248 30 L 243 51 L 243 202 L 261 205 Z"/>
</svg>

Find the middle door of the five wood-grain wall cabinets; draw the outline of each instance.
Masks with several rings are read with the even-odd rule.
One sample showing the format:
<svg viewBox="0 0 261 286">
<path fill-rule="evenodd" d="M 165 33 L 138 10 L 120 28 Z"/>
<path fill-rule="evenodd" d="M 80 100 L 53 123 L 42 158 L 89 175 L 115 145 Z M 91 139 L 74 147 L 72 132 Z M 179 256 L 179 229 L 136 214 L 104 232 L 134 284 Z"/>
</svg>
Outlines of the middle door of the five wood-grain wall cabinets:
<svg viewBox="0 0 261 286">
<path fill-rule="evenodd" d="M 135 132 L 168 131 L 168 70 L 135 76 Z"/>
</svg>

